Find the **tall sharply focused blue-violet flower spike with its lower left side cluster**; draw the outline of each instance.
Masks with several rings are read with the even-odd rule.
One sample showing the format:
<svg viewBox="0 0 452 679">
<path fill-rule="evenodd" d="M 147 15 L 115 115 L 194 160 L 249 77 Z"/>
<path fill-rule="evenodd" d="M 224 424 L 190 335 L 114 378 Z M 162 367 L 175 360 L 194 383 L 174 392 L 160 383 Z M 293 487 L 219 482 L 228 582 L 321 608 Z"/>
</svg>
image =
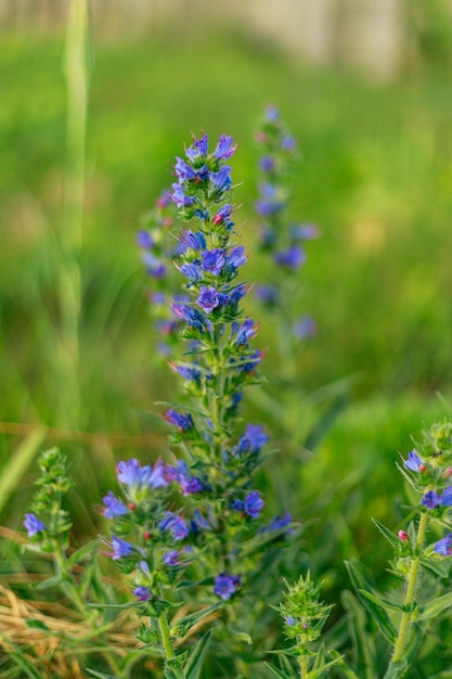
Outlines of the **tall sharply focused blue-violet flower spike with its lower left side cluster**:
<svg viewBox="0 0 452 679">
<path fill-rule="evenodd" d="M 160 221 L 170 252 L 155 230 L 139 234 L 154 281 L 152 298 L 159 296 L 170 313 L 169 366 L 189 399 L 180 408 L 168 405 L 163 413 L 178 456 L 152 465 L 119 462 L 121 497 L 108 491 L 103 503 L 113 522 L 109 555 L 132 575 L 135 598 L 154 607 L 182 574 L 196 581 L 211 573 L 212 593 L 229 600 L 246 585 L 253 567 L 253 560 L 243 556 L 250 538 L 267 549 L 269 534 L 276 543 L 290 533 L 289 514 L 260 525 L 264 498 L 253 488 L 253 475 L 268 434 L 253 423 L 237 432 L 243 392 L 257 382 L 262 353 L 253 346 L 258 326 L 241 305 L 248 287 L 238 277 L 247 254 L 232 221 L 228 162 L 235 149 L 225 134 L 211 152 L 207 134 L 194 139 L 185 157 L 176 159 L 172 191 L 160 204 L 169 209 L 171 201 L 181 220 L 179 229 L 175 216 Z M 164 297 L 169 269 L 180 277 L 180 293 L 172 299 L 168 290 L 177 290 L 175 281 Z"/>
</svg>

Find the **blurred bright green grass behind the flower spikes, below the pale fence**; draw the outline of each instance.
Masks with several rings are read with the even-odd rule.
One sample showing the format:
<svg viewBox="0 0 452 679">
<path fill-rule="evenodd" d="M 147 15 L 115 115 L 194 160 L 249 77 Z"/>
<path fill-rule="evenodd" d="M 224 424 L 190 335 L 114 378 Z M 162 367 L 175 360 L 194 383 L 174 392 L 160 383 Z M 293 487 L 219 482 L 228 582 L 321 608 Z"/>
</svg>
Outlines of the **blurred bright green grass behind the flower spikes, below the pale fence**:
<svg viewBox="0 0 452 679">
<path fill-rule="evenodd" d="M 371 517 L 397 521 L 398 450 L 411 449 L 424 423 L 452 414 L 451 17 L 445 2 L 424 9 L 422 22 L 410 24 L 403 59 L 382 79 L 341 60 L 313 64 L 284 40 L 232 22 L 186 25 L 184 16 L 176 11 L 141 33 L 127 25 L 103 31 L 98 17 L 89 36 L 76 414 L 65 407 L 72 377 L 57 349 L 65 16 L 50 26 L 13 22 L 1 34 L 1 523 L 20 525 L 34 451 L 46 445 L 61 443 L 73 460 L 79 537 L 95 531 L 92 507 L 113 483 L 115 460 L 165 453 L 154 401 L 177 386 L 154 360 L 135 232 L 191 133 L 232 134 L 246 273 L 258 279 L 254 131 L 272 103 L 301 150 L 293 219 L 322 234 L 300 271 L 300 312 L 315 318 L 319 332 L 300 359 L 307 397 L 295 417 L 310 420 L 309 394 L 326 385 L 340 384 L 348 403 L 312 454 L 285 454 L 282 444 L 284 463 L 270 461 L 261 483 L 270 507 L 319 517 L 312 539 L 326 539 L 312 567 L 331 572 L 334 587 L 344 556 L 360 553 L 376 572 L 385 567 Z M 260 321 L 271 381 L 274 329 L 270 318 Z M 250 399 L 247 417 L 256 420 L 254 408 Z M 36 441 L 28 425 L 50 428 Z"/>
</svg>

